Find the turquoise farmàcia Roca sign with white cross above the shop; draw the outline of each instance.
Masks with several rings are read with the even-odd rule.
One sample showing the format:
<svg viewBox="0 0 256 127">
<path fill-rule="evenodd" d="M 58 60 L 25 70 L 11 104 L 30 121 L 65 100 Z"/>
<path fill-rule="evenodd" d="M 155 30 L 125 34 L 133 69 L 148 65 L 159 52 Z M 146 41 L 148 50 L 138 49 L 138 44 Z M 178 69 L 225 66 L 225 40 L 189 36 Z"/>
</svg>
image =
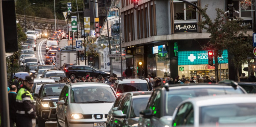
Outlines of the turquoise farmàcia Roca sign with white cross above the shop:
<svg viewBox="0 0 256 127">
<path fill-rule="evenodd" d="M 228 63 L 227 50 L 222 57 L 218 57 L 219 63 Z M 214 61 L 215 63 L 215 61 Z M 208 51 L 181 51 L 178 52 L 178 65 L 208 64 Z"/>
</svg>

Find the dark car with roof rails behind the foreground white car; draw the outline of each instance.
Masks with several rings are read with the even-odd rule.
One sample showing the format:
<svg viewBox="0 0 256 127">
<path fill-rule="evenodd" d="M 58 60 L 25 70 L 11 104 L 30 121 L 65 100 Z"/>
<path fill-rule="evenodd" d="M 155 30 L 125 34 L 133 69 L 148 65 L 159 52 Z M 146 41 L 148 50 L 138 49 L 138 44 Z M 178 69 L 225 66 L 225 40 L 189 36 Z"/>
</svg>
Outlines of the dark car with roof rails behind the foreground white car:
<svg viewBox="0 0 256 127">
<path fill-rule="evenodd" d="M 237 84 L 177 84 L 162 85 L 154 90 L 145 110 L 140 112 L 138 127 L 165 127 L 180 102 L 199 96 L 216 96 L 225 94 L 247 94 Z"/>
</svg>

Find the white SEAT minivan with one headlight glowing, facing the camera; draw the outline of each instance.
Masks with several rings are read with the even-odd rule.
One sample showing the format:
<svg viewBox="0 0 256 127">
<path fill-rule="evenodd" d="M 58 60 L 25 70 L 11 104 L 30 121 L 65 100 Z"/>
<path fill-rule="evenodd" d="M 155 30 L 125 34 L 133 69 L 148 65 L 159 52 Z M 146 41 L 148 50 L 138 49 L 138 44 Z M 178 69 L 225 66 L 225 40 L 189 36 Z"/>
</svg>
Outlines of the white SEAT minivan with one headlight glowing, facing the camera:
<svg viewBox="0 0 256 127">
<path fill-rule="evenodd" d="M 113 88 L 105 83 L 66 84 L 56 109 L 57 127 L 106 127 L 116 98 Z"/>
</svg>

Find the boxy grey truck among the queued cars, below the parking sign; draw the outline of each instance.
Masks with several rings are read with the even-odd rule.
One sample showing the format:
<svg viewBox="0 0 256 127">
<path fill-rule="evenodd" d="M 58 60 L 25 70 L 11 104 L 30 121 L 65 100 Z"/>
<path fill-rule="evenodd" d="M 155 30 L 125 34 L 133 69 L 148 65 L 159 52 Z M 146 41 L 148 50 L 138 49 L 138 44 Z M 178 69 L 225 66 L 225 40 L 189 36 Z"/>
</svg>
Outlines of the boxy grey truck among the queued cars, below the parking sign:
<svg viewBox="0 0 256 127">
<path fill-rule="evenodd" d="M 55 67 L 60 69 L 64 63 L 72 63 L 77 65 L 77 52 L 56 52 L 56 64 Z"/>
</svg>

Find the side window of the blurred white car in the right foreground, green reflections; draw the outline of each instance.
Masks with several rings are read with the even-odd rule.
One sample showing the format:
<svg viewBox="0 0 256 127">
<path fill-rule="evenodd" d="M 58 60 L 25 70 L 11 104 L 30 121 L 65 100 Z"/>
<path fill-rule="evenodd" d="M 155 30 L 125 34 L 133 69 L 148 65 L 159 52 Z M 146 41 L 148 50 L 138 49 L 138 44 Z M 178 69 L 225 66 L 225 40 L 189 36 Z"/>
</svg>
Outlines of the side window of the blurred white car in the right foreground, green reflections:
<svg viewBox="0 0 256 127">
<path fill-rule="evenodd" d="M 173 120 L 173 126 L 184 126 L 194 124 L 194 109 L 192 103 L 181 105 Z"/>
</svg>

